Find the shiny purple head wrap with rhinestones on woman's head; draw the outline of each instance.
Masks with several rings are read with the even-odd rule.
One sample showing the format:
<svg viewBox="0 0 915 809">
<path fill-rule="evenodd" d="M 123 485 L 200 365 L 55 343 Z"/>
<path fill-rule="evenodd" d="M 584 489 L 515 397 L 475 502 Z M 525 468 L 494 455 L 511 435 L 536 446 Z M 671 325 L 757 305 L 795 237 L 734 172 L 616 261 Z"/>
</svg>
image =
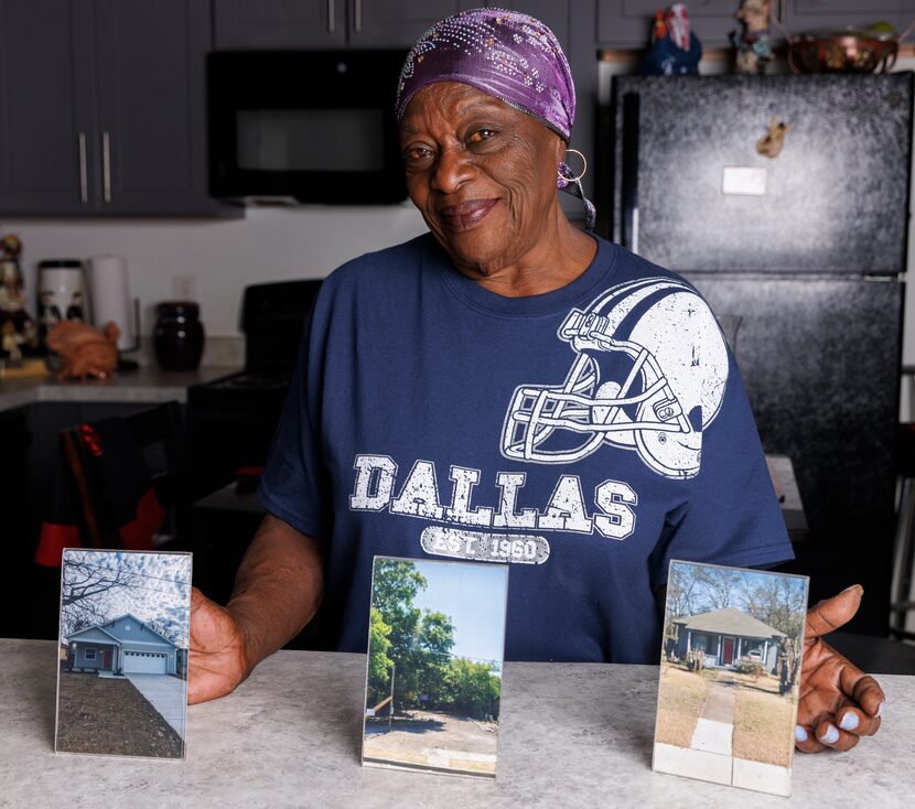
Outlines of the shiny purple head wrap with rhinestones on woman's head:
<svg viewBox="0 0 915 809">
<path fill-rule="evenodd" d="M 410 48 L 397 87 L 397 120 L 418 90 L 460 82 L 527 112 L 568 142 L 575 118 L 572 72 L 542 22 L 503 9 L 472 9 L 430 28 Z"/>
</svg>

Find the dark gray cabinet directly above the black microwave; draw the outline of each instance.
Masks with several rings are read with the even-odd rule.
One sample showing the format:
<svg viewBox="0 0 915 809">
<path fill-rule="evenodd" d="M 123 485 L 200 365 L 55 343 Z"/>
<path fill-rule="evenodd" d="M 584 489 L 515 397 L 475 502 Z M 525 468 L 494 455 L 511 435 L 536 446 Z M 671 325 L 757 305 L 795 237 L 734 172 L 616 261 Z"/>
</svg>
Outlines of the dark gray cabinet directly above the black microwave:
<svg viewBox="0 0 915 809">
<path fill-rule="evenodd" d="M 473 0 L 213 0 L 215 47 L 408 48 Z"/>
</svg>

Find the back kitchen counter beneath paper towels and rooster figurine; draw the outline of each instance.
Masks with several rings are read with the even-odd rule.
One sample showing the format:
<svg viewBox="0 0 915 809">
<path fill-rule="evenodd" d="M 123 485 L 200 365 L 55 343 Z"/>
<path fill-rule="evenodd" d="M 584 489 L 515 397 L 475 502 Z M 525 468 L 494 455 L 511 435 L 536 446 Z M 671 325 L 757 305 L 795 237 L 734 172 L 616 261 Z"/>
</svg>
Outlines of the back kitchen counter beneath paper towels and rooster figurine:
<svg viewBox="0 0 915 809">
<path fill-rule="evenodd" d="M 187 388 L 239 370 L 237 368 L 198 368 L 166 371 L 142 367 L 111 377 L 87 381 L 58 381 L 56 377 L 0 378 L 0 410 L 37 401 L 163 402 L 187 401 Z M 1 805 L 0 805 L 1 806 Z"/>
</svg>

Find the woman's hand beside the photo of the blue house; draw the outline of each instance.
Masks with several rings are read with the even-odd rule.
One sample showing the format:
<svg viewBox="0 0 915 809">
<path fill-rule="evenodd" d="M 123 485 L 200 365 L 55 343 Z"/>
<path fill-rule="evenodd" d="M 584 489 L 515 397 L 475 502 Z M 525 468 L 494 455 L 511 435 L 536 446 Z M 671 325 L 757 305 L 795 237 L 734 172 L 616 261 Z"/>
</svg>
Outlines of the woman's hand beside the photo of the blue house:
<svg viewBox="0 0 915 809">
<path fill-rule="evenodd" d="M 232 693 L 251 668 L 239 623 L 228 610 L 194 587 L 191 591 L 189 704 Z"/>
</svg>

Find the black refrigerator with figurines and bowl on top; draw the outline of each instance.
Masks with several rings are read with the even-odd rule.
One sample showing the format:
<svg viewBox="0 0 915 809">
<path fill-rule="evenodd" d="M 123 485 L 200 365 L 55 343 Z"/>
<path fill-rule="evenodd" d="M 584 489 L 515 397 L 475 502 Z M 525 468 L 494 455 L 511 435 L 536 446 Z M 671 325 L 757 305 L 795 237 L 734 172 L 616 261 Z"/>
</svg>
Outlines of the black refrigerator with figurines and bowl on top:
<svg viewBox="0 0 915 809">
<path fill-rule="evenodd" d="M 811 601 L 863 584 L 849 628 L 874 635 L 889 625 L 912 98 L 912 73 L 620 76 L 609 114 L 607 235 L 706 295 L 766 452 L 794 465 L 808 532 L 788 569 L 811 576 Z"/>
</svg>

